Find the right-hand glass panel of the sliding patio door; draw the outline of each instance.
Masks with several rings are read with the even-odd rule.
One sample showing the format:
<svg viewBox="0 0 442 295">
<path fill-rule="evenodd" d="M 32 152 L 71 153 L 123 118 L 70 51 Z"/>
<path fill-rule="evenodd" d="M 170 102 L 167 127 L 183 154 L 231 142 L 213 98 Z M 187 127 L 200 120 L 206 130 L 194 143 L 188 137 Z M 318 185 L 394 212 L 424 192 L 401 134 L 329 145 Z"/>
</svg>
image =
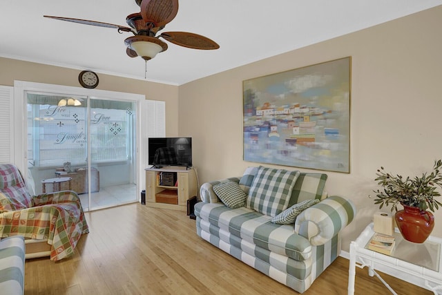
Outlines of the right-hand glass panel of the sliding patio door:
<svg viewBox="0 0 442 295">
<path fill-rule="evenodd" d="M 135 102 L 90 99 L 90 173 L 95 175 L 91 180 L 94 184 L 91 190 L 95 192 L 90 197 L 93 207 L 137 200 L 135 110 Z M 99 187 L 101 190 L 97 192 Z"/>
</svg>

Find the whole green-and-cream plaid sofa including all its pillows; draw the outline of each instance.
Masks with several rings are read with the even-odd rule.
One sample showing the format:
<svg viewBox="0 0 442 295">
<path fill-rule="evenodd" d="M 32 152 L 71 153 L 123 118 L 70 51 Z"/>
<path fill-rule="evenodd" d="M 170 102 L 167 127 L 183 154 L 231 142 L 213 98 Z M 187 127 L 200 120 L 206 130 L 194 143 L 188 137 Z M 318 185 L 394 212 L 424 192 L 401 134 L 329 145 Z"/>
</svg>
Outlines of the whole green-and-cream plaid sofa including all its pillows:
<svg viewBox="0 0 442 295">
<path fill-rule="evenodd" d="M 296 173 L 297 172 L 297 173 Z M 198 236 L 302 293 L 340 253 L 354 204 L 323 193 L 327 175 L 250 167 L 206 182 L 195 204 Z"/>
</svg>

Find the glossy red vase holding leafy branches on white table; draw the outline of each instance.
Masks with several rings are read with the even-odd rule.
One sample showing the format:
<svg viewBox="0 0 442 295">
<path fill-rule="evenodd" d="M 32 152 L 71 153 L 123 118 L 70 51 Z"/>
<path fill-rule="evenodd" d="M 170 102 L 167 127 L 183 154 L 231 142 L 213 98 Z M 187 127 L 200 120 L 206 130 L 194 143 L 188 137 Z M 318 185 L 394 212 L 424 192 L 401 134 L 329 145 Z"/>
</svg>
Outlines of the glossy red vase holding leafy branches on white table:
<svg viewBox="0 0 442 295">
<path fill-rule="evenodd" d="M 394 215 L 396 225 L 405 240 L 410 242 L 425 242 L 434 227 L 434 216 L 428 211 L 421 211 L 419 207 L 410 207 L 405 204 L 403 210 Z"/>
</svg>

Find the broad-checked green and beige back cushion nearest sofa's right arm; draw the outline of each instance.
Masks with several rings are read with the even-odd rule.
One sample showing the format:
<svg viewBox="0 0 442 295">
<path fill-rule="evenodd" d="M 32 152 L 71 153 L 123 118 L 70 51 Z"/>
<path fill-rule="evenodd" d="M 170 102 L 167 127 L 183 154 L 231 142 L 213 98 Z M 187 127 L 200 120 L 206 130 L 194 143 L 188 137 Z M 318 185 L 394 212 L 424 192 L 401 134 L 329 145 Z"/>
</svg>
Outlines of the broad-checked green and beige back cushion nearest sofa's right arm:
<svg viewBox="0 0 442 295">
<path fill-rule="evenodd" d="M 323 196 L 327 174 L 300 173 L 291 192 L 289 207 L 305 200 L 320 200 Z"/>
</svg>

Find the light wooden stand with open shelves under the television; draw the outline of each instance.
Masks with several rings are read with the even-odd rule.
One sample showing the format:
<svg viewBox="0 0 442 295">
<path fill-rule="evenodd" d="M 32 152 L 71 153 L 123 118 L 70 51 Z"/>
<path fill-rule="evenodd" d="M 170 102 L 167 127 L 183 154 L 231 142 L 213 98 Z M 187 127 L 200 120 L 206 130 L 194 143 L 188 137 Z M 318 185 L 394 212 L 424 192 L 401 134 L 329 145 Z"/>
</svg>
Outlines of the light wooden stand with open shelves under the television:
<svg viewBox="0 0 442 295">
<path fill-rule="evenodd" d="M 147 168 L 145 170 L 147 207 L 186 211 L 187 200 L 197 196 L 198 185 L 195 170 L 186 168 Z M 176 181 L 171 181 L 171 175 Z M 167 180 L 162 181 L 162 176 L 167 176 Z"/>
</svg>

